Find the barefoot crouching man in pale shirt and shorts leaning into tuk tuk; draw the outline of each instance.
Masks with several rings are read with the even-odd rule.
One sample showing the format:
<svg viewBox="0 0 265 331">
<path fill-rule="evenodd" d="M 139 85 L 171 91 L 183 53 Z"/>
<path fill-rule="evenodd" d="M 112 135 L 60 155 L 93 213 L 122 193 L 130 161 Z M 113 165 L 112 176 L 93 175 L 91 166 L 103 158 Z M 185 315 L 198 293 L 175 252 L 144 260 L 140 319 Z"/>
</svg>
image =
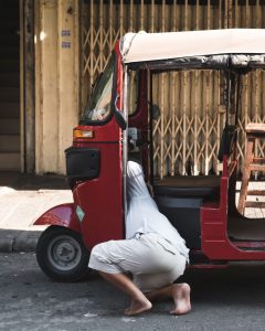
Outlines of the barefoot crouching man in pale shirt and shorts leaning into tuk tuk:
<svg viewBox="0 0 265 331">
<path fill-rule="evenodd" d="M 158 211 L 141 167 L 132 161 L 127 164 L 127 190 L 126 239 L 96 245 L 88 266 L 130 297 L 126 316 L 150 310 L 153 300 L 163 298 L 173 299 L 170 313 L 187 313 L 190 286 L 173 284 L 189 261 L 184 239 Z"/>
</svg>

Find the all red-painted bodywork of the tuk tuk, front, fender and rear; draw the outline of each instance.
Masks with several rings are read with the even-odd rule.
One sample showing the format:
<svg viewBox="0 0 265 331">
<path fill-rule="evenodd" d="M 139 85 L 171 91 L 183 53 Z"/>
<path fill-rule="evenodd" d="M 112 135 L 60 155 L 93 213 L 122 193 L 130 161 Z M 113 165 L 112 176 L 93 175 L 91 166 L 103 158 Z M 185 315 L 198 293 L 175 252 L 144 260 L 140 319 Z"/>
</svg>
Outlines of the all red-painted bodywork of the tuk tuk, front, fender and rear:
<svg viewBox="0 0 265 331">
<path fill-rule="evenodd" d="M 119 54 L 119 42 L 116 43 L 117 54 L 117 106 L 123 109 L 123 65 Z M 141 85 L 138 109 L 129 118 L 129 126 L 141 130 L 144 142 L 148 141 L 148 96 L 147 73 L 140 74 Z M 99 177 L 76 185 L 74 204 L 63 204 L 51 209 L 36 220 L 35 225 L 53 224 L 81 232 L 88 248 L 108 239 L 124 238 L 123 209 L 123 166 L 121 166 L 121 130 L 114 116 L 103 126 L 78 126 L 81 130 L 93 130 L 91 139 L 74 139 L 77 148 L 91 147 L 100 151 Z M 148 171 L 148 146 L 142 151 L 145 172 Z M 209 260 L 264 260 L 265 243 L 232 243 L 227 236 L 229 202 L 235 194 L 236 161 L 229 167 L 227 158 L 223 160 L 223 174 L 220 184 L 220 201 L 205 203 L 201 207 L 202 253 Z M 231 184 L 232 182 L 232 184 Z M 231 196 L 233 195 L 233 199 Z M 81 206 L 85 215 L 80 223 L 75 214 Z M 261 250 L 243 250 L 241 247 L 259 248 Z M 197 268 L 220 268 L 221 265 L 198 264 Z"/>
</svg>

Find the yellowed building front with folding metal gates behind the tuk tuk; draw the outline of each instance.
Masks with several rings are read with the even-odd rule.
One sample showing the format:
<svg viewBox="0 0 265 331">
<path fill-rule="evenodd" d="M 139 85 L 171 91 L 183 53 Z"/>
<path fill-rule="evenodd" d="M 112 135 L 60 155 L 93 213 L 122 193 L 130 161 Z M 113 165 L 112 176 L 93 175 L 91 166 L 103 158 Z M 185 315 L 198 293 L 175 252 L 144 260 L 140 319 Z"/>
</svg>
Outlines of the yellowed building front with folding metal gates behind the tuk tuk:
<svg viewBox="0 0 265 331">
<path fill-rule="evenodd" d="M 264 0 L 1 0 L 0 9 L 0 170 L 36 173 L 65 172 L 64 149 L 91 85 L 126 32 L 265 28 Z M 245 125 L 265 118 L 264 83 L 262 71 L 244 77 L 241 161 Z M 157 78 L 157 164 L 179 163 L 180 173 L 189 162 L 195 174 L 216 171 L 222 84 L 213 72 Z"/>
</svg>

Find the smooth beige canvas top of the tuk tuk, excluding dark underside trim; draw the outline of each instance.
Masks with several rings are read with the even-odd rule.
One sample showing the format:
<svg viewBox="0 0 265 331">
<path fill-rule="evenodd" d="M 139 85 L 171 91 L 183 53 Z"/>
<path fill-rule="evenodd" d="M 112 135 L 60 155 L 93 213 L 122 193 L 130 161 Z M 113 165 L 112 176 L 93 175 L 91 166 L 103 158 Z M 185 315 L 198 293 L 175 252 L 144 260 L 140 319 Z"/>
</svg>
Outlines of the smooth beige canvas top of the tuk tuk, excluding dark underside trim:
<svg viewBox="0 0 265 331">
<path fill-rule="evenodd" d="M 265 54 L 265 29 L 127 33 L 120 52 L 127 64 L 214 54 Z"/>
</svg>

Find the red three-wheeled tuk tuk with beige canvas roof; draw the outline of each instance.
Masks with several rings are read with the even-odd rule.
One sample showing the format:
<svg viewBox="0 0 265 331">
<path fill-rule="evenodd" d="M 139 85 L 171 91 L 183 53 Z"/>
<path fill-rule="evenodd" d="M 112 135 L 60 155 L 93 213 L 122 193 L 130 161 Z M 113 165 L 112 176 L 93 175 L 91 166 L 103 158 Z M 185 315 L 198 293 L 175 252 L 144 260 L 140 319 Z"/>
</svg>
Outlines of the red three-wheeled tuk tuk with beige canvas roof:
<svg viewBox="0 0 265 331">
<path fill-rule="evenodd" d="M 142 164 L 159 210 L 191 249 L 191 266 L 265 259 L 265 220 L 247 220 L 235 206 L 240 88 L 246 73 L 265 68 L 264 40 L 265 30 L 235 29 L 128 33 L 116 43 L 65 150 L 74 203 L 55 206 L 34 223 L 50 225 L 36 247 L 49 277 L 80 279 L 94 245 L 124 238 L 128 159 Z M 221 175 L 156 178 L 153 76 L 187 70 L 219 71 L 226 82 L 226 113 L 233 108 L 234 116 L 233 122 L 226 116 L 220 141 Z M 135 75 L 137 107 L 128 116 Z"/>
</svg>

